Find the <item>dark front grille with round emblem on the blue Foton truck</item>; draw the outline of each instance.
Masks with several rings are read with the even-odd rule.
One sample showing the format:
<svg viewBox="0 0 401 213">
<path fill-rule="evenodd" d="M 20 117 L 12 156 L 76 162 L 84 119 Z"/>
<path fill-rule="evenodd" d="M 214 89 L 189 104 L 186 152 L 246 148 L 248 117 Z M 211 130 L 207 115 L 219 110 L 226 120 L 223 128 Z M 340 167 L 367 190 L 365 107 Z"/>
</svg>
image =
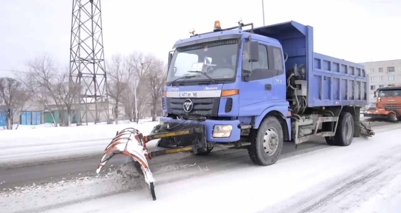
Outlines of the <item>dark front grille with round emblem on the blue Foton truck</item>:
<svg viewBox="0 0 401 213">
<path fill-rule="evenodd" d="M 184 111 L 184 100 L 187 98 L 167 98 L 167 112 L 175 115 L 218 116 L 220 97 L 192 98 L 194 104 L 190 113 Z"/>
</svg>

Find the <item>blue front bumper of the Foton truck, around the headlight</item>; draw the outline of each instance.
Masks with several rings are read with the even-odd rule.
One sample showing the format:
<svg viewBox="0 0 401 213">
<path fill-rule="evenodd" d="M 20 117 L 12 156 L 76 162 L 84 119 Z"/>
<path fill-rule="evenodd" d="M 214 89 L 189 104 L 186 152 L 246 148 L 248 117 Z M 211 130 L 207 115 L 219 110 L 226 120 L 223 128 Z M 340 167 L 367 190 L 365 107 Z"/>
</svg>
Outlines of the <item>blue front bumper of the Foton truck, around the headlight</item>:
<svg viewBox="0 0 401 213">
<path fill-rule="evenodd" d="M 168 117 L 161 117 L 160 121 L 169 124 L 171 123 L 172 126 L 176 125 L 177 123 L 184 122 L 184 120 L 177 120 Z M 241 129 L 238 127 L 239 120 L 205 120 L 205 121 L 187 120 L 183 124 L 204 125 L 206 129 L 205 133 L 207 142 L 236 142 L 239 140 L 241 136 Z M 213 138 L 213 129 L 215 125 L 231 125 L 232 126 L 231 135 L 227 138 Z"/>
</svg>

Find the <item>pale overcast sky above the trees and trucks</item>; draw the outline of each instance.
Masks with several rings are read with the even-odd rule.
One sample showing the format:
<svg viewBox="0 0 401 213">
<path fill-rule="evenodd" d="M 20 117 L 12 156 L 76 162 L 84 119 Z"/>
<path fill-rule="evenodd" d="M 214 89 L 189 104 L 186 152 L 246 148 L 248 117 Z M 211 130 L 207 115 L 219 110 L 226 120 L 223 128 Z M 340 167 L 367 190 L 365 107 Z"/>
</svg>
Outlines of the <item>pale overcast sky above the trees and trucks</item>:
<svg viewBox="0 0 401 213">
<path fill-rule="evenodd" d="M 0 69 L 24 71 L 39 54 L 68 65 L 72 2 L 0 0 Z M 223 28 L 238 16 L 263 25 L 261 0 L 101 0 L 101 10 L 106 60 L 135 50 L 167 60 L 188 29 L 209 32 L 215 20 Z M 401 59 L 400 11 L 401 0 L 265 0 L 265 23 L 313 26 L 315 52 L 362 63 Z"/>
</svg>

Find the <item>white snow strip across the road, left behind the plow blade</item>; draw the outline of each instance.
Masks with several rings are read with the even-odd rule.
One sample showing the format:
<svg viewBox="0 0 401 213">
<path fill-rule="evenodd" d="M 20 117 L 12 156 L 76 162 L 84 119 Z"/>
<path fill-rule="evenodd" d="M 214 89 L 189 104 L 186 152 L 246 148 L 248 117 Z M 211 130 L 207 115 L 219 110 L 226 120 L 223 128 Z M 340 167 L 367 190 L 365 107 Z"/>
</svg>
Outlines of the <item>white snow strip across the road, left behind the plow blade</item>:
<svg viewBox="0 0 401 213">
<path fill-rule="evenodd" d="M 20 125 L 16 130 L 0 131 L 0 164 L 99 154 L 117 131 L 136 128 L 147 135 L 158 123 L 140 120 L 138 124 L 120 121 L 118 125 L 91 124 L 72 127 Z M 155 141 L 150 142 L 149 146 L 155 144 Z"/>
</svg>

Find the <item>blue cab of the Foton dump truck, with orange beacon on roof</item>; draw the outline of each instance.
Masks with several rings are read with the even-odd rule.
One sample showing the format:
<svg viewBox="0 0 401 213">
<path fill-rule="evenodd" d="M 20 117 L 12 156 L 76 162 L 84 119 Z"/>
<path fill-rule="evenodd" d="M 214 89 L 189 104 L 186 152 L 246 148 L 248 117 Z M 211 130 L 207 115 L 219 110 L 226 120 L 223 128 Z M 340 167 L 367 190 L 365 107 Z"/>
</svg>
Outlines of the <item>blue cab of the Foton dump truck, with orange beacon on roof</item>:
<svg viewBox="0 0 401 213">
<path fill-rule="evenodd" d="M 234 146 L 228 143 L 257 128 L 265 110 L 275 110 L 290 126 L 282 46 L 242 27 L 239 21 L 239 27 L 222 30 L 216 22 L 214 32 L 174 44 L 162 122 L 205 124 L 207 142 L 222 146 Z"/>
</svg>

